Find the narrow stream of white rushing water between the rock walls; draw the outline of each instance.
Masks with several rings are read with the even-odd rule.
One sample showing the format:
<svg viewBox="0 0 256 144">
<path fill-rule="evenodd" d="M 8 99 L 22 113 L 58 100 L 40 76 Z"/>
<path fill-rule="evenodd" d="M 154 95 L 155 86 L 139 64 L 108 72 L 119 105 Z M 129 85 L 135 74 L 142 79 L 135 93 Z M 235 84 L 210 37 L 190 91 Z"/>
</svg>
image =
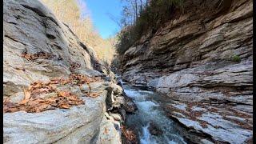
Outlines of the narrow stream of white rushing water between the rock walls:
<svg viewBox="0 0 256 144">
<path fill-rule="evenodd" d="M 175 122 L 167 118 L 164 114 L 162 102 L 158 94 L 153 91 L 139 90 L 130 86 L 126 82 L 122 82 L 122 88 L 126 95 L 132 98 L 138 106 L 135 114 L 127 115 L 127 126 L 133 127 L 138 131 L 140 143 L 142 144 L 183 144 L 186 143 L 182 136 L 175 130 Z M 161 105 L 160 105 L 161 103 Z M 158 127 L 162 133 L 155 135 L 150 134 L 150 123 Z"/>
</svg>

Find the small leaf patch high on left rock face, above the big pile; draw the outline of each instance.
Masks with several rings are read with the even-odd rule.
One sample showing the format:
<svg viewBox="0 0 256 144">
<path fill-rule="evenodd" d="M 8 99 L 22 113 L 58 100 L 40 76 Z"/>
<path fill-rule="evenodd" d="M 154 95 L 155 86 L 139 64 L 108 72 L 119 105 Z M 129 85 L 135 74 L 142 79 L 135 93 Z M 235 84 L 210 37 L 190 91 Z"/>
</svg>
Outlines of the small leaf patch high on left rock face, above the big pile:
<svg viewBox="0 0 256 144">
<path fill-rule="evenodd" d="M 27 54 L 27 52 L 24 52 L 22 53 L 22 58 L 26 58 L 26 60 L 29 60 L 29 61 L 34 61 L 38 58 L 50 59 L 50 58 L 53 58 L 53 55 L 50 53 L 45 53 L 43 51 L 38 52 L 36 54 Z"/>
</svg>

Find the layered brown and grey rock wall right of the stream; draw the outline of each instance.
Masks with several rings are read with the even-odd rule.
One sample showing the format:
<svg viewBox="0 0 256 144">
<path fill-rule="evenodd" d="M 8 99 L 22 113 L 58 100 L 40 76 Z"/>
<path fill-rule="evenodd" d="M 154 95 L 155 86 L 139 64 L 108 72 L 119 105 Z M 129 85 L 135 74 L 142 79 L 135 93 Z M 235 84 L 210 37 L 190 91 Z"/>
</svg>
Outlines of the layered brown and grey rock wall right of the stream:
<svg viewBox="0 0 256 144">
<path fill-rule="evenodd" d="M 185 14 L 147 34 L 122 57 L 122 78 L 167 94 L 171 118 L 202 138 L 252 138 L 253 1 L 186 1 Z"/>
</svg>

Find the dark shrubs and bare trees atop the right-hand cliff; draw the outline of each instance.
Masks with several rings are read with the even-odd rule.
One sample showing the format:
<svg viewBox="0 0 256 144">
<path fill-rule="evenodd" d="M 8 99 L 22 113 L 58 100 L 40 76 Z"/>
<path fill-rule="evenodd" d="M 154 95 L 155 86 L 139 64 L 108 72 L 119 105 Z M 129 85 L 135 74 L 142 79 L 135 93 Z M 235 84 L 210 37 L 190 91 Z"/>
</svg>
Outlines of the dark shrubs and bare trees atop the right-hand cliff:
<svg viewBox="0 0 256 144">
<path fill-rule="evenodd" d="M 131 6 L 123 7 L 121 25 L 116 46 L 118 54 L 124 54 L 143 34 L 156 30 L 172 18 L 175 8 L 182 8 L 184 0 L 126 0 Z M 133 9 L 129 9 L 132 7 Z"/>
</svg>

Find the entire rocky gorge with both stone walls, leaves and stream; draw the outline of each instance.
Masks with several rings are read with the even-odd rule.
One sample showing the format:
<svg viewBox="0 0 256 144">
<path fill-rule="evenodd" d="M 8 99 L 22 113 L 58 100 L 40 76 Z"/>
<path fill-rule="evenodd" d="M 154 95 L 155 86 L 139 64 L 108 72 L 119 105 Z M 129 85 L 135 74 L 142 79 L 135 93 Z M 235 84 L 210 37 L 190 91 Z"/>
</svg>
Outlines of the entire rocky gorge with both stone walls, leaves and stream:
<svg viewBox="0 0 256 144">
<path fill-rule="evenodd" d="M 252 16 L 186 0 L 116 75 L 41 2 L 4 0 L 4 143 L 252 143 Z"/>
</svg>

